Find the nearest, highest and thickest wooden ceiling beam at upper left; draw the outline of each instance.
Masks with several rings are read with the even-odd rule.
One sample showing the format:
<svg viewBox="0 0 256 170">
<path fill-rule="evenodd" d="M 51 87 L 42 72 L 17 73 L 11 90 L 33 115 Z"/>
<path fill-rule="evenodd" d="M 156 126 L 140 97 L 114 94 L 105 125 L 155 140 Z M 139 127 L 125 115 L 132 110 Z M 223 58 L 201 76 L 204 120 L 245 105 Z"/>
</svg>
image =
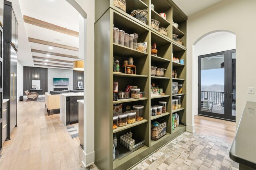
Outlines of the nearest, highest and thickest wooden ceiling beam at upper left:
<svg viewBox="0 0 256 170">
<path fill-rule="evenodd" d="M 57 32 L 64 33 L 64 34 L 67 34 L 67 35 L 72 35 L 74 37 L 79 36 L 79 33 L 77 31 L 73 31 L 71 29 L 60 27 L 58 25 L 54 25 L 52 23 L 48 23 L 48 22 L 45 22 L 45 21 L 42 21 L 42 20 L 38 20 L 36 18 L 32 18 L 32 17 L 24 15 L 23 20 L 24 20 L 25 23 L 36 25 L 38 27 L 43 27 L 43 28 L 46 28 L 46 29 L 50 29 L 52 31 L 57 31 Z"/>
</svg>

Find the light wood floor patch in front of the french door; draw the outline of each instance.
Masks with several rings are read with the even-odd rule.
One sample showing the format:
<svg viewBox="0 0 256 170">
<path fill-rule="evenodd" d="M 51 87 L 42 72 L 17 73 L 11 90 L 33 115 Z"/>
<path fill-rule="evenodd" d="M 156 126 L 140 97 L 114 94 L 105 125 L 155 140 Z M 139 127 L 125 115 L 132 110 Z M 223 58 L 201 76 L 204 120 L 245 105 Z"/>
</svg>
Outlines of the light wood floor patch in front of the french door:
<svg viewBox="0 0 256 170">
<path fill-rule="evenodd" d="M 236 123 L 204 116 L 194 116 L 196 133 L 232 143 L 236 133 Z"/>
</svg>

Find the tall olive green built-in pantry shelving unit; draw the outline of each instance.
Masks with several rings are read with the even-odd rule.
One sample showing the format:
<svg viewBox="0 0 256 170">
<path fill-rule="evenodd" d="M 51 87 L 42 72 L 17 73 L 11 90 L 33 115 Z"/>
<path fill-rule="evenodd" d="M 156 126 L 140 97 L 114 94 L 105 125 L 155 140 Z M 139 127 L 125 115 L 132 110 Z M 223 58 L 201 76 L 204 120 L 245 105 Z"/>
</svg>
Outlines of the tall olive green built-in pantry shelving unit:
<svg viewBox="0 0 256 170">
<path fill-rule="evenodd" d="M 155 10 L 150 9 L 154 4 Z M 186 63 L 172 62 L 174 57 L 186 62 L 186 20 L 187 16 L 171 0 L 126 0 L 126 12 L 113 6 L 113 0 L 95 0 L 95 164 L 100 169 L 124 170 L 138 164 L 155 150 L 186 131 L 186 126 L 180 125 L 172 130 L 172 115 L 178 113 L 180 121 L 186 123 Z M 147 10 L 147 24 L 130 16 L 132 10 Z M 159 16 L 165 13 L 166 20 Z M 168 29 L 168 36 L 150 27 L 150 20 L 160 21 L 160 27 Z M 178 29 L 172 26 L 172 20 L 179 24 Z M 146 53 L 113 43 L 113 28 L 117 27 L 126 33 L 137 33 L 138 42 L 148 42 Z M 172 40 L 172 33 L 185 39 L 183 45 Z M 156 43 L 158 55 L 151 55 L 151 44 Z M 120 74 L 113 72 L 114 60 L 122 61 L 133 57 L 136 74 Z M 151 76 L 150 66 L 165 68 L 164 77 Z M 124 68 L 121 68 L 124 72 Z M 172 70 L 177 70 L 178 79 L 172 78 Z M 144 98 L 113 101 L 113 81 L 118 82 L 118 90 L 126 86 L 138 86 L 146 92 Z M 182 94 L 172 95 L 172 82 L 183 84 Z M 164 96 L 150 96 L 150 85 L 155 83 L 163 88 Z M 172 96 L 182 96 L 182 108 L 172 110 Z M 150 107 L 158 105 L 159 101 L 167 102 L 167 113 L 150 116 Z M 112 129 L 113 104 L 123 106 L 143 105 L 144 120 Z M 152 120 L 164 119 L 167 122 L 167 133 L 157 141 L 150 138 Z M 144 146 L 131 152 L 122 159 L 113 158 L 113 133 L 120 135 L 132 131 L 137 141 L 145 141 Z"/>
</svg>

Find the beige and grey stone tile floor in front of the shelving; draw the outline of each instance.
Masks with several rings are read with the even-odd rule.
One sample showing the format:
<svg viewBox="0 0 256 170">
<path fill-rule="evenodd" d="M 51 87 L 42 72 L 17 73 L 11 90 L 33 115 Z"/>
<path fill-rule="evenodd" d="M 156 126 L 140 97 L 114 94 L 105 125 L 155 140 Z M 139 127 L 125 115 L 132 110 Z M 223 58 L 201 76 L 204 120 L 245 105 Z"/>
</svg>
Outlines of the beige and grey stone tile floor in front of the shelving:
<svg viewBox="0 0 256 170">
<path fill-rule="evenodd" d="M 230 147 L 212 137 L 184 132 L 132 170 L 238 170 L 238 163 L 229 158 Z M 85 169 L 98 170 L 94 164 Z"/>
</svg>

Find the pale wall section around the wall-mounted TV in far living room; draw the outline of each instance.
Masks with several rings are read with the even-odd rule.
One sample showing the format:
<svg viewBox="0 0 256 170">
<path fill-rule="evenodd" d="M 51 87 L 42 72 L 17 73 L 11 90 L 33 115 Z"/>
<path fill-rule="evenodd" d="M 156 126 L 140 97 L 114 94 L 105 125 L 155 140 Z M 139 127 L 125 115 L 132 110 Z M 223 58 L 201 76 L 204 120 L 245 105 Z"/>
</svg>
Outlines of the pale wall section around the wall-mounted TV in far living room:
<svg viewBox="0 0 256 170">
<path fill-rule="evenodd" d="M 54 86 L 53 78 L 68 78 L 68 86 Z M 53 88 L 68 88 L 73 90 L 73 70 L 64 70 L 56 68 L 48 68 L 48 92 L 53 91 Z"/>
</svg>

